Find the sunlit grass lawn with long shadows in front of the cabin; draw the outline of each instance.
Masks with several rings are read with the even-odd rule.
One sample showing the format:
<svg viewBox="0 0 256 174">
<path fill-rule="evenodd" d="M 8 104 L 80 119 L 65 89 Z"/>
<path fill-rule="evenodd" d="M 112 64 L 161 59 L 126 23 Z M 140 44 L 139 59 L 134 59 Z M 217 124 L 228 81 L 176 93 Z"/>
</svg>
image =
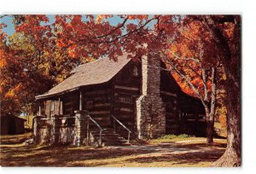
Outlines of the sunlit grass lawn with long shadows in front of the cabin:
<svg viewBox="0 0 256 174">
<path fill-rule="evenodd" d="M 2 166 L 120 166 L 180 167 L 209 166 L 223 153 L 226 140 L 166 136 L 129 147 L 45 147 L 24 141 L 31 134 L 1 136 Z"/>
</svg>

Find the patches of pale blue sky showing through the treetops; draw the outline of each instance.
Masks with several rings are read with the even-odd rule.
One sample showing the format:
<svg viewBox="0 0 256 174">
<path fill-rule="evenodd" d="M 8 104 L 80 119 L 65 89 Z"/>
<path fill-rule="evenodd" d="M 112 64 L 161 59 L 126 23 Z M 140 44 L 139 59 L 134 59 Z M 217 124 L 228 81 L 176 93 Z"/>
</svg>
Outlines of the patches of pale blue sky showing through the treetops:
<svg viewBox="0 0 256 174">
<path fill-rule="evenodd" d="M 49 17 L 49 22 L 47 24 L 51 24 L 55 21 L 55 15 L 54 14 L 49 14 L 47 16 Z M 7 27 L 3 28 L 3 32 L 6 32 L 8 35 L 12 35 L 15 32 L 15 27 L 12 24 L 12 20 L 13 20 L 13 18 L 10 17 L 10 16 L 5 16 L 1 19 L 1 22 L 3 22 L 4 24 L 7 25 Z M 110 25 L 116 26 L 118 23 L 122 22 L 123 19 L 119 18 L 119 16 L 117 16 L 117 15 L 114 15 L 113 18 L 109 18 L 108 21 L 109 21 Z M 133 20 L 133 21 L 131 20 L 129 22 L 136 23 L 136 20 Z M 45 25 L 45 24 L 42 23 L 42 25 Z"/>
</svg>

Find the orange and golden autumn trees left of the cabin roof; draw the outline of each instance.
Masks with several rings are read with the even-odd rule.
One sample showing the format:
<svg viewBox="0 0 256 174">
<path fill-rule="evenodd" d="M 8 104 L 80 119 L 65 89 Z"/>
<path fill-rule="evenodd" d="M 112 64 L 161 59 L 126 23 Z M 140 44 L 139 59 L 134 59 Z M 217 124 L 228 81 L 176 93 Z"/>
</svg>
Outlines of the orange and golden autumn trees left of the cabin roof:
<svg viewBox="0 0 256 174">
<path fill-rule="evenodd" d="M 60 83 L 86 60 L 69 56 L 57 44 L 60 31 L 46 15 L 2 17 L 13 19 L 15 33 L 1 32 L 1 114 L 34 113 L 35 96 Z"/>
</svg>

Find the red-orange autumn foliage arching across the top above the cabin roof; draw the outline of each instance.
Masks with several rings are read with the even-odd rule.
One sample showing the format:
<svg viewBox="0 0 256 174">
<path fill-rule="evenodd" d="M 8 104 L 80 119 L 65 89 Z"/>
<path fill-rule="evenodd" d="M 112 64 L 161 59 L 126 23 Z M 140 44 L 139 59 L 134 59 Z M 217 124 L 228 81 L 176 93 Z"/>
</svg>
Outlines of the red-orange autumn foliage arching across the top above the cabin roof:
<svg viewBox="0 0 256 174">
<path fill-rule="evenodd" d="M 25 44 L 30 45 L 29 50 L 15 48 L 16 43 L 12 48 L 14 55 L 22 55 L 20 61 L 16 62 L 17 65 L 27 61 L 27 65 L 21 63 L 20 69 L 17 70 L 28 70 L 20 73 L 26 77 L 22 78 L 28 81 L 26 85 L 25 82 L 22 84 L 41 86 L 42 93 L 65 79 L 73 67 L 94 58 L 108 56 L 116 60 L 125 50 L 129 57 L 137 59 L 148 51 L 164 50 L 167 58 L 175 61 L 181 67 L 180 70 L 189 77 L 191 83 L 195 84 L 196 89 L 202 93 L 203 85 L 199 78 L 201 67 L 212 65 L 212 62 L 204 61 L 204 59 L 207 60 L 205 57 L 211 54 L 204 56 L 201 63 L 186 60 L 190 57 L 200 57 L 200 50 L 205 50 L 205 47 L 201 46 L 204 42 L 210 43 L 204 44 L 206 50 L 213 48 L 211 37 L 201 26 L 201 22 L 188 21 L 187 18 L 177 15 L 119 14 L 117 16 L 119 23 L 116 26 L 111 25 L 108 20 L 113 18 L 113 15 L 106 14 L 60 14 L 55 15 L 55 21 L 52 24 L 48 24 L 47 15 L 20 15 L 15 18 L 17 23 L 15 32 L 24 33 L 24 38 L 27 38 Z M 44 25 L 41 25 L 42 23 Z M 227 35 L 230 35 L 229 31 L 231 27 L 227 28 Z M 176 38 L 171 42 L 174 36 Z M 143 47 L 144 44 L 148 47 Z M 214 51 L 211 53 L 213 54 Z M 172 54 L 182 59 L 177 60 Z M 0 61 L 1 67 L 6 64 L 9 63 L 5 60 Z M 195 72 L 191 71 L 188 65 Z M 184 92 L 196 96 L 195 91 L 177 73 L 172 72 L 172 75 Z M 22 79 L 19 78 L 12 84 L 13 88 Z M 37 80 L 39 82 L 36 83 Z M 44 81 L 48 82 L 47 85 L 43 83 Z M 211 82 L 207 80 L 207 89 L 209 90 L 210 87 Z M 34 95 L 39 92 L 37 89 L 32 90 L 31 93 Z"/>
</svg>

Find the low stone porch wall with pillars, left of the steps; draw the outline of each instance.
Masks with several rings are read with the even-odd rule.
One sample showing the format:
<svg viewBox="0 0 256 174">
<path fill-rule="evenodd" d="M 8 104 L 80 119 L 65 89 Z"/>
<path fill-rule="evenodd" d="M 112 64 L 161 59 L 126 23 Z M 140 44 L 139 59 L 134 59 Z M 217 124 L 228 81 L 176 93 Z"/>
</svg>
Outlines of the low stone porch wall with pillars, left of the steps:
<svg viewBox="0 0 256 174">
<path fill-rule="evenodd" d="M 78 117 L 76 118 L 60 117 L 58 115 L 53 115 L 51 119 L 46 119 L 42 116 L 35 117 L 33 127 L 34 142 L 46 145 L 82 145 L 84 126 L 86 126 L 87 122 L 81 113 L 77 112 Z"/>
</svg>

